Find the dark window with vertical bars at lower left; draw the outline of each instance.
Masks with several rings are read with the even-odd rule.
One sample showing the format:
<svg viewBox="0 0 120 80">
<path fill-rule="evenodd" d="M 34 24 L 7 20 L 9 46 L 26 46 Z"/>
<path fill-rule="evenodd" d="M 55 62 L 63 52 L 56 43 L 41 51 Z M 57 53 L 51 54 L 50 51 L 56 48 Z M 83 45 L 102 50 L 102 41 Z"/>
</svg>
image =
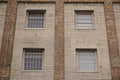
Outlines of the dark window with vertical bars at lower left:
<svg viewBox="0 0 120 80">
<path fill-rule="evenodd" d="M 29 49 L 24 51 L 24 70 L 42 70 L 44 49 Z"/>
</svg>

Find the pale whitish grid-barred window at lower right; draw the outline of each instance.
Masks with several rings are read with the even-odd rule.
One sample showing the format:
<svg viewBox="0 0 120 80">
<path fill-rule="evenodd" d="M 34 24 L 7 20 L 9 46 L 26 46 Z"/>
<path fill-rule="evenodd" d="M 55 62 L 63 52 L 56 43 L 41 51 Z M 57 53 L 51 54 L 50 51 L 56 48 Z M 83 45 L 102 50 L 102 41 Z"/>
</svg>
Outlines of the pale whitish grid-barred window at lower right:
<svg viewBox="0 0 120 80">
<path fill-rule="evenodd" d="M 79 72 L 95 72 L 96 49 L 77 49 L 77 70 Z"/>
</svg>

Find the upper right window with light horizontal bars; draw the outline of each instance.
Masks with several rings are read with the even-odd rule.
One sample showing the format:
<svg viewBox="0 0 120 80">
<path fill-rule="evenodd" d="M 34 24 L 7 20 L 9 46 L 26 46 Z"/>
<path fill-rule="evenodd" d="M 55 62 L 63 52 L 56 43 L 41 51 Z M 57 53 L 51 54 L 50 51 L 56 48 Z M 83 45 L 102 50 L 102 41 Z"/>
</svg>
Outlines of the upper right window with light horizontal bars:
<svg viewBox="0 0 120 80">
<path fill-rule="evenodd" d="M 75 11 L 77 29 L 93 29 L 93 11 Z"/>
</svg>

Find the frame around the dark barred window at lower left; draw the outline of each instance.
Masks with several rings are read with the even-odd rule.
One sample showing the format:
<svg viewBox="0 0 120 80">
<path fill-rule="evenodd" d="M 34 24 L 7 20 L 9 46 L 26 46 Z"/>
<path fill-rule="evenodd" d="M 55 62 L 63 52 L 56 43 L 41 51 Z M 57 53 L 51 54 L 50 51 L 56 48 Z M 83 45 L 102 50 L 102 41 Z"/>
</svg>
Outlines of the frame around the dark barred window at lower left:
<svg viewBox="0 0 120 80">
<path fill-rule="evenodd" d="M 24 69 L 24 62 L 25 62 L 25 50 L 27 50 L 27 49 L 32 49 L 32 50 L 40 50 L 40 51 L 42 51 L 42 66 L 41 66 L 41 69 L 40 70 L 26 70 L 26 69 Z M 22 59 L 22 71 L 43 71 L 43 65 L 44 65 L 44 55 L 45 55 L 45 49 L 44 48 L 23 48 L 23 59 Z"/>
</svg>

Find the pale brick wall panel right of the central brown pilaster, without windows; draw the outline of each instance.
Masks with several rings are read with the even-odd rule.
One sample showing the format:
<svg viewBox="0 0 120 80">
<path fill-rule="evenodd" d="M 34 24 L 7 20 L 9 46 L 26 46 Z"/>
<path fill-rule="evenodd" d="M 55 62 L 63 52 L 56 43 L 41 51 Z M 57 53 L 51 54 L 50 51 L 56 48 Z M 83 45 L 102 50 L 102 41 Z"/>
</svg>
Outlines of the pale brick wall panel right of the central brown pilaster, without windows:
<svg viewBox="0 0 120 80">
<path fill-rule="evenodd" d="M 93 10 L 95 29 L 77 29 L 75 10 Z M 106 35 L 104 6 L 102 3 L 65 4 L 65 79 L 111 80 L 111 70 Z M 77 71 L 76 48 L 97 49 L 98 72 Z"/>
</svg>

